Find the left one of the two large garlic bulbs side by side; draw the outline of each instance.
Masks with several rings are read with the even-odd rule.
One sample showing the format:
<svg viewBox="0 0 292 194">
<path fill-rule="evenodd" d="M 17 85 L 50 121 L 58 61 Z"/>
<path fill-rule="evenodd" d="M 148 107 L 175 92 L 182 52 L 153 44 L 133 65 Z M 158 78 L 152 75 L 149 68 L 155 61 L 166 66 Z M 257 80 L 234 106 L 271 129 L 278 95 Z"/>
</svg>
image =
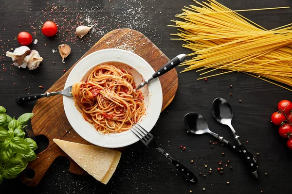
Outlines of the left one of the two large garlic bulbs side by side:
<svg viewBox="0 0 292 194">
<path fill-rule="evenodd" d="M 12 58 L 13 65 L 18 66 L 18 68 L 25 68 L 27 64 L 25 63 L 24 58 L 30 53 L 30 51 L 31 50 L 28 47 L 21 46 L 16 48 L 13 52 L 7 51 L 6 56 Z"/>
</svg>

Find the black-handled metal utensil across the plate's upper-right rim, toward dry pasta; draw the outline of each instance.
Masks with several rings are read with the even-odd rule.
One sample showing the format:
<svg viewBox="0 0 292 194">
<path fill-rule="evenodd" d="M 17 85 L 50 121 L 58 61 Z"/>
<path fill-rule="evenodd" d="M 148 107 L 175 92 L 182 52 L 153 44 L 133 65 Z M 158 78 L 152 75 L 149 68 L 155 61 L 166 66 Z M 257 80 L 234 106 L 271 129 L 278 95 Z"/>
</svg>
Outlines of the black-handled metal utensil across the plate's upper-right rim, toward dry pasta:
<svg viewBox="0 0 292 194">
<path fill-rule="evenodd" d="M 164 75 L 177 65 L 181 64 L 183 60 L 185 59 L 185 54 L 179 54 L 169 62 L 167 62 L 165 65 L 163 65 L 158 71 L 156 71 L 150 78 L 146 79 L 144 82 L 140 83 L 136 88 L 135 91 L 139 90 L 140 88 L 144 87 L 146 84 L 148 84 L 151 80 L 158 78 L 159 76 Z"/>
</svg>

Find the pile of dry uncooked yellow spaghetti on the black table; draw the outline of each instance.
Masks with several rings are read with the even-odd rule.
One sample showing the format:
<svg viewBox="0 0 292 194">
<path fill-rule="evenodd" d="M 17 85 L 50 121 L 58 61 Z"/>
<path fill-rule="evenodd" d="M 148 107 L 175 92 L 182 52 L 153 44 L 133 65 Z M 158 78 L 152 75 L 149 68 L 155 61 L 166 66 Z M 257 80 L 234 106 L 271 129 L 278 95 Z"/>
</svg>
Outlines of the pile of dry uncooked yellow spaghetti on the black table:
<svg viewBox="0 0 292 194">
<path fill-rule="evenodd" d="M 216 0 L 208 0 L 208 3 L 194 1 L 201 7 L 185 7 L 183 13 L 177 15 L 184 21 L 173 20 L 174 27 L 180 28 L 180 32 L 171 35 L 179 36 L 179 40 L 186 42 L 183 47 L 194 51 L 189 54 L 194 57 L 184 61 L 183 65 L 188 67 L 182 72 L 203 67 L 197 71 L 205 75 L 217 69 L 227 69 L 231 71 L 198 80 L 241 71 L 264 81 L 270 79 L 292 86 L 292 24 L 266 30 L 237 13 L 249 10 L 233 11 Z M 281 8 L 289 7 L 250 11 Z"/>
</svg>

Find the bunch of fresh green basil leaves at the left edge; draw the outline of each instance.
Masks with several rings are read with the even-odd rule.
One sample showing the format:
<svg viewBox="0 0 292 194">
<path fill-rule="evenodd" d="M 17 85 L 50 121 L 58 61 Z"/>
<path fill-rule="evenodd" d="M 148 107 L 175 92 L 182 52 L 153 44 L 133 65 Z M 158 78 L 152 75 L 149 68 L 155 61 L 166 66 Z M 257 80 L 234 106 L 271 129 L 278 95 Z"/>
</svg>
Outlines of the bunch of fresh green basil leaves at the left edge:
<svg viewBox="0 0 292 194">
<path fill-rule="evenodd" d="M 0 106 L 0 184 L 3 178 L 16 178 L 29 161 L 37 158 L 37 143 L 25 137 L 24 128 L 33 113 L 24 113 L 18 119 L 6 114 Z"/>
</svg>

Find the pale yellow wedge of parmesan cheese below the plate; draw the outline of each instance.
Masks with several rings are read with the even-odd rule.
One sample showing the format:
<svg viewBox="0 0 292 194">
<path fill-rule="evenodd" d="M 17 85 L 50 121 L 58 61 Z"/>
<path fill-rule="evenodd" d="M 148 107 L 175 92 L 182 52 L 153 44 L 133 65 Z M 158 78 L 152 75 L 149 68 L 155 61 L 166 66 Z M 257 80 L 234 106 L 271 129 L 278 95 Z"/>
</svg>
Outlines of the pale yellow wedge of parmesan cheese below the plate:
<svg viewBox="0 0 292 194">
<path fill-rule="evenodd" d="M 53 139 L 53 141 L 81 168 L 104 184 L 109 182 L 122 154 L 120 151 L 105 147 L 78 144 L 59 139 Z"/>
</svg>

